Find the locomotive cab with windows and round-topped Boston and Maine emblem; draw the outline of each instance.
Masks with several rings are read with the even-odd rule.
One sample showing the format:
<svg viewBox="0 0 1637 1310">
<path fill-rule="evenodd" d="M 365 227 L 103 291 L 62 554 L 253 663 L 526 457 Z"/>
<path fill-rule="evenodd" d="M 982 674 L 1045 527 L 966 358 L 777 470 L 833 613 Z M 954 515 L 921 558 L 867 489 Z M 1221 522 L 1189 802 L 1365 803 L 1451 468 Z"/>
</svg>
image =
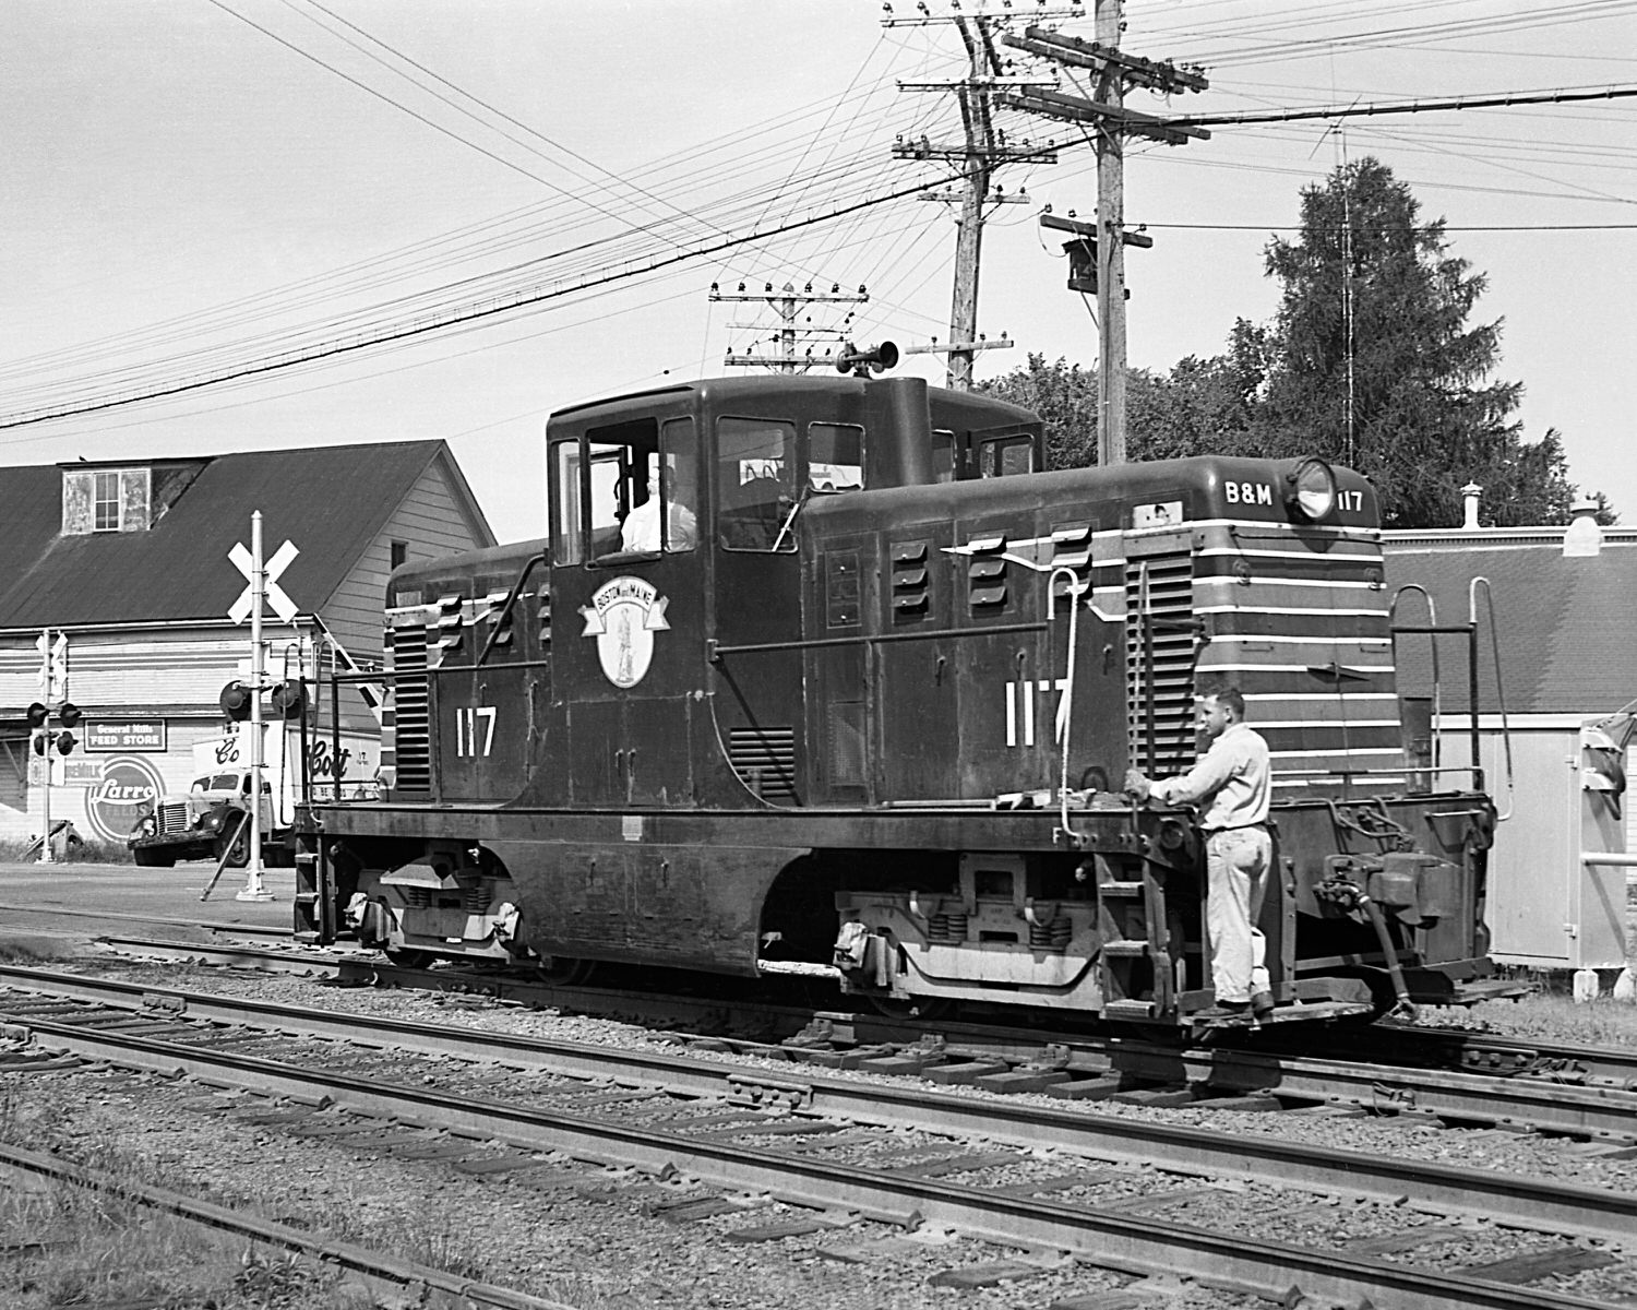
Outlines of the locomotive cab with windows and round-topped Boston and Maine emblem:
<svg viewBox="0 0 1637 1310">
<path fill-rule="evenodd" d="M 1030 472 L 1041 427 L 918 378 L 720 380 L 561 411 L 547 449 L 553 614 L 584 624 L 552 647 L 568 739 L 534 794 L 800 806 L 805 511 Z"/>
</svg>

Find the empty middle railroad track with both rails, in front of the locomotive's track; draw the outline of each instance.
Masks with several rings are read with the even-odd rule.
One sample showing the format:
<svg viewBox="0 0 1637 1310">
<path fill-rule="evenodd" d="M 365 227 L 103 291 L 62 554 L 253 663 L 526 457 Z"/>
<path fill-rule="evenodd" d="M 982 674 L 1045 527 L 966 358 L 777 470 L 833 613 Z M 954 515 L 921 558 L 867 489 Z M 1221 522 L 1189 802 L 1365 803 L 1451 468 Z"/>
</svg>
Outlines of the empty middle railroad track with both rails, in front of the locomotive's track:
<svg viewBox="0 0 1637 1310">
<path fill-rule="evenodd" d="M 650 1204 L 743 1220 L 725 1230 L 732 1241 L 800 1233 L 820 1240 L 864 1220 L 930 1225 L 1036 1253 L 1036 1264 L 1038 1253 L 1053 1251 L 1059 1261 L 1184 1274 L 1285 1303 L 1297 1287 L 1377 1307 L 1568 1310 L 1606 1302 L 1536 1281 L 1617 1266 L 1622 1254 L 1596 1243 L 1619 1246 L 1637 1231 L 1637 1195 L 1264 1135 L 1100 1118 L 907 1081 L 864 1082 L 812 1064 L 746 1069 L 719 1058 L 322 1014 L 36 969 L 0 969 L 0 1014 L 15 1025 L 5 1033 L 28 1035 L 57 1061 L 182 1074 L 236 1094 L 218 1110 L 314 1140 L 377 1141 L 381 1150 L 445 1158 L 452 1168 L 519 1186 L 584 1189 L 586 1161 L 635 1169 L 645 1179 L 635 1186 L 660 1189 Z M 381 1074 L 365 1068 L 372 1048 L 390 1051 Z M 424 1058 L 427 1073 L 406 1066 L 406 1055 Z M 450 1074 L 452 1056 L 465 1074 Z M 386 1081 L 388 1069 L 395 1079 L 434 1081 L 406 1086 Z M 246 1100 L 252 1094 L 257 1104 Z M 1210 1181 L 1202 1186 L 1202 1177 Z M 1405 1222 L 1369 1249 L 1310 1251 L 1190 1218 L 1247 1186 L 1267 1192 L 1256 1204 L 1260 1218 L 1346 1197 L 1346 1205 Z M 778 1210 L 764 1215 L 769 1205 Z M 1493 1225 L 1516 1236 L 1517 1249 L 1481 1269 L 1382 1259 Z"/>
</svg>

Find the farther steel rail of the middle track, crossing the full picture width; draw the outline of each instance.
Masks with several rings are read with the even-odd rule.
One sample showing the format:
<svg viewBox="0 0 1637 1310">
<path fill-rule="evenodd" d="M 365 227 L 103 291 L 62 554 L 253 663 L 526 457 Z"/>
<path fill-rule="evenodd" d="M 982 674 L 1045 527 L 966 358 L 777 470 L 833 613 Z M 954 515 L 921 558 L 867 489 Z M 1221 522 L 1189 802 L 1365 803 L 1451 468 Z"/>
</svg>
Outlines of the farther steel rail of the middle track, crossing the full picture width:
<svg viewBox="0 0 1637 1310">
<path fill-rule="evenodd" d="M 805 1114 L 855 1123 L 987 1138 L 1097 1159 L 1139 1161 L 1177 1172 L 1257 1179 L 1393 1204 L 1408 1199 L 1424 1208 L 1490 1218 L 1536 1231 L 1598 1236 L 1622 1244 L 1629 1243 L 1632 1231 L 1637 1231 L 1637 1195 L 1501 1174 L 1493 1169 L 1378 1158 L 1262 1135 L 1229 1135 L 1221 1130 L 1074 1114 L 1018 1104 L 1005 1097 L 953 1095 L 897 1079 L 864 1082 L 823 1074 L 807 1076 L 805 1068 L 792 1068 L 791 1073 L 763 1071 L 660 1051 L 409 1023 L 270 1002 L 241 1002 L 170 989 L 142 989 L 103 979 L 64 978 L 59 984 L 56 978 L 39 978 L 38 971 L 23 968 L 0 968 L 0 982 L 124 1007 L 139 1007 L 146 996 L 156 996 L 170 1002 L 162 1005 L 159 1014 L 172 1019 L 267 1025 L 280 1033 L 322 1040 L 365 1040 L 421 1055 L 488 1059 L 570 1077 L 611 1081 L 617 1086 L 661 1087 L 681 1095 L 789 1104 L 799 1105 Z M 0 997 L 0 1012 L 3 1010 L 5 999 Z M 88 1038 L 124 1037 L 87 1033 L 54 1019 L 33 1019 L 28 1014 L 18 1015 L 15 1022 L 23 1028 L 62 1037 L 74 1033 Z M 190 1051 L 185 1043 L 172 1045 L 178 1053 Z"/>
</svg>

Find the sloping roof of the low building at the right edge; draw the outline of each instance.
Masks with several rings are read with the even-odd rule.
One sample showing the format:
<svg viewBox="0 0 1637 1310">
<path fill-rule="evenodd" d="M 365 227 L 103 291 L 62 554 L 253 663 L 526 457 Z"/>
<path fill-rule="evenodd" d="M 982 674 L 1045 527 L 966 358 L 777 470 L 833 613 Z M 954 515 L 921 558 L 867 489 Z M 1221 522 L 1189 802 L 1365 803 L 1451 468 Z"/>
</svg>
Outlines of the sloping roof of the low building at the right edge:
<svg viewBox="0 0 1637 1310">
<path fill-rule="evenodd" d="M 1467 622 L 1472 580 L 1488 578 L 1509 714 L 1608 714 L 1637 699 L 1637 544 L 1606 537 L 1596 555 L 1565 557 L 1563 529 L 1555 529 L 1529 544 L 1450 534 L 1439 542 L 1388 537 L 1383 549 L 1388 585 L 1424 586 L 1441 624 Z M 1499 704 L 1481 590 L 1477 612 L 1478 709 L 1493 714 Z M 1426 606 L 1403 596 L 1398 621 L 1424 624 Z M 1463 712 L 1465 645 L 1439 642 L 1444 709 Z M 1400 691 L 1431 688 L 1426 637 L 1400 637 L 1398 665 Z"/>
</svg>

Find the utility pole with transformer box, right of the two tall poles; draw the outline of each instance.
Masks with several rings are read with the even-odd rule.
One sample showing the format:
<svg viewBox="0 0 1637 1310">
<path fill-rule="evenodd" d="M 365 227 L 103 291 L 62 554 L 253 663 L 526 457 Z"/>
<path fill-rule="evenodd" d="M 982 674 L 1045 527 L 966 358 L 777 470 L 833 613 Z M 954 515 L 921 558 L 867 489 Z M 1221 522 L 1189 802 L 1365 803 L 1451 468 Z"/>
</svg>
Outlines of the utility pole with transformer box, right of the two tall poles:
<svg viewBox="0 0 1637 1310">
<path fill-rule="evenodd" d="M 1184 90 L 1205 90 L 1210 84 L 1198 72 L 1125 54 L 1120 49 L 1120 29 L 1125 26 L 1121 0 L 1095 0 L 1095 41 L 1061 36 L 1036 26 L 1026 28 L 1023 36 L 1007 34 L 1002 38 L 1013 49 L 1049 59 L 1054 64 L 1087 69 L 1094 79 L 1092 98 L 1085 100 L 1058 92 L 1002 92 L 999 102 L 1043 118 L 1084 123 L 1095 133 L 1097 223 L 1092 231 L 1082 233 L 1082 237 L 1092 247 L 1087 254 L 1095 259 L 1097 460 L 1112 465 L 1125 463 L 1126 447 L 1125 247 L 1152 246 L 1151 239 L 1125 229 L 1125 138 L 1146 136 L 1180 146 L 1188 139 L 1210 136 L 1200 128 L 1128 110 L 1125 92 L 1128 85 L 1133 85 L 1169 95 Z M 1069 224 L 1046 226 L 1064 228 Z M 1080 231 L 1084 226 L 1074 224 L 1071 231 Z M 1076 280 L 1071 278 L 1071 287 L 1074 285 Z"/>
</svg>

